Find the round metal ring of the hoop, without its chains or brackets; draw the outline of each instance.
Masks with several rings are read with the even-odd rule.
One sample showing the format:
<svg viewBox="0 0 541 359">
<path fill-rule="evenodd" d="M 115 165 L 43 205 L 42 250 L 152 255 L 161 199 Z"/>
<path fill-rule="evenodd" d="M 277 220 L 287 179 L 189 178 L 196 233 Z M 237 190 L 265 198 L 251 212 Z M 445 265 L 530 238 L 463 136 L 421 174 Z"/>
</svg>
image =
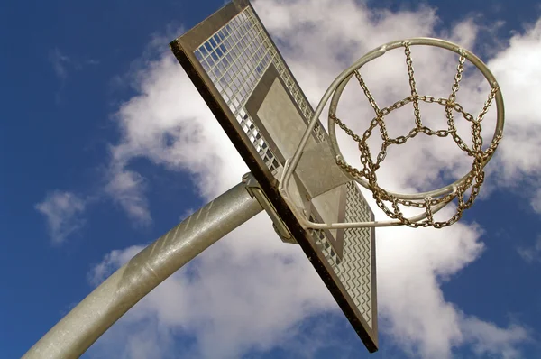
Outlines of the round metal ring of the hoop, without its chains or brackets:
<svg viewBox="0 0 541 359">
<path fill-rule="evenodd" d="M 361 69 L 363 65 L 370 62 L 371 60 L 375 60 L 381 57 L 387 51 L 404 47 L 404 43 L 406 41 L 408 41 L 410 46 L 416 46 L 416 45 L 435 46 L 435 47 L 443 48 L 445 50 L 454 51 L 455 53 L 459 55 L 464 54 L 466 57 L 466 60 L 470 61 L 477 69 L 481 71 L 484 78 L 488 81 L 489 85 L 491 86 L 491 88 L 498 88 L 498 90 L 496 91 L 496 95 L 494 97 L 494 100 L 496 102 L 496 110 L 497 110 L 497 123 L 496 123 L 496 128 L 491 140 L 491 143 L 496 143 L 497 134 L 502 132 L 503 125 L 504 125 L 503 97 L 501 95 L 501 90 L 500 90 L 500 87 L 498 86 L 498 82 L 496 81 L 496 78 L 494 78 L 494 75 L 492 75 L 491 70 L 486 66 L 486 64 L 481 59 L 479 59 L 475 54 L 473 54 L 471 51 L 465 50 L 459 45 L 454 44 L 453 42 L 440 40 L 440 39 L 434 39 L 434 38 L 412 38 L 412 39 L 406 39 L 406 40 L 400 40 L 400 41 L 392 41 L 362 56 L 361 59 L 355 61 L 352 66 L 350 66 L 348 69 L 345 69 L 337 78 L 335 78 L 335 81 L 333 81 L 331 86 L 328 87 L 325 96 L 322 97 L 319 105 L 317 106 L 316 113 L 314 114 L 313 119 L 319 118 L 319 115 L 321 115 L 321 112 L 323 111 L 323 107 L 326 106 L 326 103 L 328 102 L 331 95 L 332 95 L 332 100 L 329 106 L 329 114 L 331 112 L 335 112 L 335 109 L 338 106 L 339 99 L 342 95 L 342 92 L 344 91 L 345 86 L 349 83 L 349 80 L 353 77 L 353 73 L 354 73 L 353 71 L 355 71 L 356 69 Z M 333 152 L 335 158 L 340 159 L 344 161 L 345 163 L 347 163 L 344 160 L 344 155 L 340 151 L 340 147 L 336 139 L 335 121 L 330 116 L 328 118 L 328 133 L 329 133 L 329 139 L 331 143 L 331 151 Z M 482 162 L 483 167 L 487 164 L 488 161 L 491 160 L 492 155 L 493 153 L 485 161 Z M 453 192 L 456 187 L 462 185 L 471 172 L 472 171 L 469 171 L 466 175 L 463 176 L 463 178 L 457 179 L 452 184 L 442 187 L 440 189 L 434 189 L 434 190 L 430 190 L 426 192 L 419 192 L 415 194 L 391 192 L 388 190 L 386 190 L 386 192 L 390 196 L 394 196 L 400 199 L 409 199 L 409 200 L 424 199 L 426 197 L 445 196 Z M 345 170 L 344 170 L 344 174 L 350 179 L 353 179 L 354 181 L 359 183 L 362 187 L 366 189 L 371 189 L 366 179 L 356 178 Z"/>
</svg>

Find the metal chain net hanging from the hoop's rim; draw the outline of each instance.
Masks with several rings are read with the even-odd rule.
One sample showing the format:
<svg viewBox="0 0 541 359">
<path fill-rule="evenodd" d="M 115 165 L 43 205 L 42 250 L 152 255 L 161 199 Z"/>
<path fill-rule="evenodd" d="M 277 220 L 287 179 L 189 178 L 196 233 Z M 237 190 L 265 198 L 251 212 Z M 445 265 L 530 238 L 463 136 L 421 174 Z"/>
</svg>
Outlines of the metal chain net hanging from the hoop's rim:
<svg viewBox="0 0 541 359">
<path fill-rule="evenodd" d="M 453 225 L 463 216 L 463 211 L 465 209 L 472 207 L 473 201 L 479 194 L 479 190 L 481 189 L 481 185 L 484 181 L 484 164 L 490 159 L 492 153 L 496 150 L 498 144 L 500 143 L 502 133 L 499 131 L 494 136 L 494 139 L 492 140 L 490 146 L 488 146 L 486 150 L 482 150 L 481 122 L 484 115 L 487 114 L 489 106 L 491 106 L 499 88 L 491 87 L 491 93 L 489 94 L 488 99 L 485 101 L 484 105 L 481 108 L 481 112 L 477 117 L 473 117 L 473 115 L 469 114 L 463 109 L 463 106 L 456 103 L 456 93 L 458 92 L 460 87 L 460 81 L 463 77 L 464 62 L 466 60 L 465 52 L 460 51 L 451 95 L 449 95 L 448 98 L 419 96 L 417 94 L 417 86 L 414 78 L 410 44 L 408 41 L 404 41 L 402 45 L 405 49 L 404 52 L 406 55 L 406 65 L 408 67 L 409 87 L 411 89 L 410 96 L 394 103 L 389 107 L 380 108 L 372 97 L 370 90 L 364 83 L 361 74 L 358 70 L 355 70 L 355 78 L 357 78 L 357 80 L 359 81 L 362 91 L 370 102 L 376 116 L 371 120 L 368 129 L 364 133 L 362 133 L 362 136 L 360 136 L 356 133 L 353 133 L 353 131 L 335 115 L 335 112 L 329 113 L 329 117 L 335 122 L 335 124 L 337 124 L 341 129 L 343 129 L 346 134 L 351 136 L 353 138 L 353 141 L 358 143 L 358 148 L 361 152 L 360 160 L 362 164 L 362 169 L 360 170 L 351 166 L 350 164 L 345 162 L 341 158 L 341 156 L 337 158 L 336 163 L 343 170 L 351 174 L 354 178 L 365 179 L 368 182 L 376 204 L 390 218 L 397 219 L 401 224 L 411 227 L 434 226 L 436 228 L 442 228 L 445 226 Z M 428 104 L 445 106 L 445 117 L 447 119 L 446 130 L 434 131 L 423 124 L 419 111 L 419 101 Z M 385 115 L 389 115 L 391 111 L 397 110 L 400 107 L 406 106 L 410 103 L 413 105 L 414 109 L 415 127 L 405 136 L 390 138 L 389 134 L 387 133 L 384 121 Z M 462 115 L 463 118 L 471 124 L 472 147 L 464 143 L 463 139 L 458 135 L 454 122 L 454 112 Z M 379 128 L 383 143 L 381 145 L 381 151 L 376 156 L 376 160 L 372 161 L 371 152 L 367 144 L 367 140 L 370 138 L 372 131 L 376 127 Z M 437 137 L 451 136 L 454 140 L 454 143 L 458 145 L 460 150 L 467 153 L 469 157 L 472 157 L 472 170 L 470 170 L 470 172 L 465 176 L 463 181 L 457 183 L 456 186 L 454 186 L 454 189 L 446 195 L 442 195 L 436 198 L 426 197 L 424 199 L 417 200 L 398 198 L 397 196 L 389 193 L 387 190 L 381 189 L 381 187 L 378 185 L 376 171 L 380 168 L 381 162 L 385 159 L 387 155 L 387 148 L 391 144 L 406 143 L 409 139 L 414 138 L 419 133 L 425 133 L 426 135 Z M 470 194 L 468 198 L 465 199 L 468 189 L 470 189 Z M 446 203 L 453 201 L 455 198 L 457 199 L 457 207 L 454 216 L 451 216 L 446 221 L 435 221 L 434 208 L 438 205 L 445 205 Z M 389 203 L 390 206 L 388 206 L 386 202 Z M 404 216 L 400 206 L 423 208 L 425 210 L 426 218 L 417 222 L 413 222 L 409 220 L 406 216 Z"/>
</svg>

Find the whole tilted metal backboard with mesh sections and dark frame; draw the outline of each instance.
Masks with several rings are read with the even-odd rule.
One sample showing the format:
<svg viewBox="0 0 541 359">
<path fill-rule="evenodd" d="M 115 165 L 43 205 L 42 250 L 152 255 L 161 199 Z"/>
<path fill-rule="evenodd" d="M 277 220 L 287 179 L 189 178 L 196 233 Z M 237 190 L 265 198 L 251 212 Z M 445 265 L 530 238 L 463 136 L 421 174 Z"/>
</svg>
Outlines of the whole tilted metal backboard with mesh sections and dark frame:
<svg viewBox="0 0 541 359">
<path fill-rule="evenodd" d="M 272 207 L 314 265 L 370 352 L 378 349 L 372 228 L 305 230 L 280 197 L 283 165 L 313 114 L 285 60 L 247 0 L 234 0 L 170 43 Z M 337 168 L 321 124 L 292 186 L 296 204 L 318 222 L 373 220 L 358 187 Z"/>
</svg>

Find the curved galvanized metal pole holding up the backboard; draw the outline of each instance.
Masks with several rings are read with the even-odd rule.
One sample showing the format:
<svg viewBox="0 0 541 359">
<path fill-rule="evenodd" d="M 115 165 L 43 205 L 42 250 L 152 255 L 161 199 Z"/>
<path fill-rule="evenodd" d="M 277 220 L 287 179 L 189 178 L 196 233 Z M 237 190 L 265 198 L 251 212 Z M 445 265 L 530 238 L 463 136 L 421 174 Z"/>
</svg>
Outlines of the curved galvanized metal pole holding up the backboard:
<svg viewBox="0 0 541 359">
<path fill-rule="evenodd" d="M 113 273 L 23 358 L 78 358 L 158 284 L 261 210 L 244 182 L 229 189 Z"/>
</svg>

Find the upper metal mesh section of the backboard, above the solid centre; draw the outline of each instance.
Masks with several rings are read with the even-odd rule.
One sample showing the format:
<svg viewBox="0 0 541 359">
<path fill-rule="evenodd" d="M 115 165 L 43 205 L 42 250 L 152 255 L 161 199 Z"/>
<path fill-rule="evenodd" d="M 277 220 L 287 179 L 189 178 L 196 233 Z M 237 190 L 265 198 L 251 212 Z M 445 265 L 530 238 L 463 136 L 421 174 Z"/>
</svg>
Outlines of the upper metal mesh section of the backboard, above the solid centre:
<svg viewBox="0 0 541 359">
<path fill-rule="evenodd" d="M 239 124 L 243 126 L 244 133 L 250 137 L 261 159 L 267 163 L 272 174 L 276 175 L 280 163 L 276 161 L 276 156 L 271 152 L 262 133 L 244 109 L 253 89 L 271 63 L 278 70 L 302 114 L 310 118 L 314 111 L 252 9 L 244 9 L 202 43 L 194 53 Z M 320 141 L 326 138 L 321 125 L 316 126 L 315 133 Z"/>
</svg>

